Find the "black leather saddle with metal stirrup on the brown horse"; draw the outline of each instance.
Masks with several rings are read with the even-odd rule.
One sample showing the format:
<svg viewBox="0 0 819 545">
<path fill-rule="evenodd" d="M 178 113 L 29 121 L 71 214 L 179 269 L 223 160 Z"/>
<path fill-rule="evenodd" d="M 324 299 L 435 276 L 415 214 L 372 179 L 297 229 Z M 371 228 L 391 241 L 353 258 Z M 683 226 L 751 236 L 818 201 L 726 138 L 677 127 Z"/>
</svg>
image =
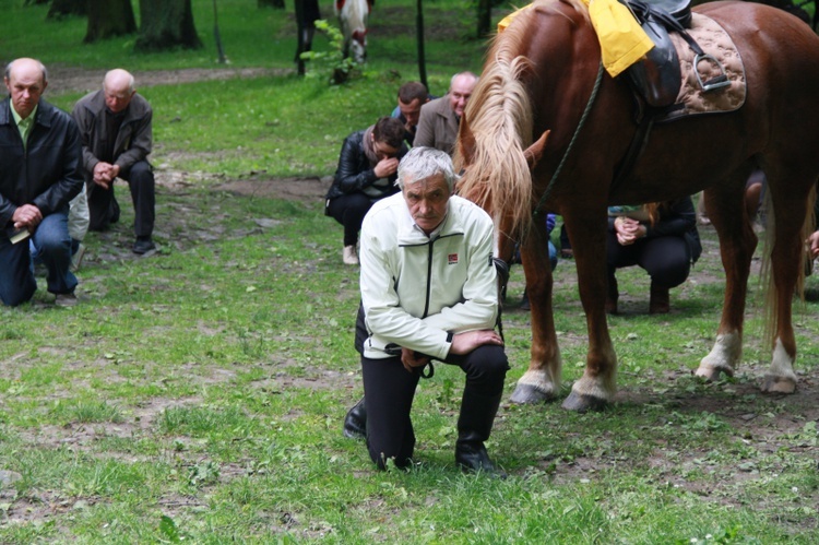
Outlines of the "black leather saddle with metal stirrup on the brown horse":
<svg viewBox="0 0 819 545">
<path fill-rule="evenodd" d="M 709 62 L 719 69 L 720 74 L 708 81 L 702 81 L 699 71 L 697 72 L 697 81 L 703 92 L 731 85 L 720 61 L 705 54 L 687 32 L 687 28 L 691 26 L 690 0 L 620 1 L 631 10 L 640 26 L 654 42 L 654 48 L 645 55 L 645 58 L 626 71 L 631 84 L 649 106 L 664 108 L 673 105 L 682 84 L 679 58 L 668 35 L 669 32 L 678 33 L 696 54 L 695 70 L 700 62 Z"/>
</svg>

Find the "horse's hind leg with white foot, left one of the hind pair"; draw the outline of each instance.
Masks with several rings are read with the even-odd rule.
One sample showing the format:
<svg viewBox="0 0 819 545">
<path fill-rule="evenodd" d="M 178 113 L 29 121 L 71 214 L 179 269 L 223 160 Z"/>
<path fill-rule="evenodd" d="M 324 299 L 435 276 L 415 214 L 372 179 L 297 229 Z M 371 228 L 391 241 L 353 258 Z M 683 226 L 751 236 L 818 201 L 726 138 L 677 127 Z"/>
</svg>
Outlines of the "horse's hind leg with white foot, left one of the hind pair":
<svg viewBox="0 0 819 545">
<path fill-rule="evenodd" d="M 743 355 L 743 319 L 748 293 L 748 275 L 757 236 L 751 228 L 744 200 L 745 180 L 750 167 L 737 171 L 719 187 L 705 190 L 705 211 L 720 237 L 720 256 L 725 269 L 725 296 L 716 341 L 695 371 L 716 380 L 734 375 Z"/>
</svg>

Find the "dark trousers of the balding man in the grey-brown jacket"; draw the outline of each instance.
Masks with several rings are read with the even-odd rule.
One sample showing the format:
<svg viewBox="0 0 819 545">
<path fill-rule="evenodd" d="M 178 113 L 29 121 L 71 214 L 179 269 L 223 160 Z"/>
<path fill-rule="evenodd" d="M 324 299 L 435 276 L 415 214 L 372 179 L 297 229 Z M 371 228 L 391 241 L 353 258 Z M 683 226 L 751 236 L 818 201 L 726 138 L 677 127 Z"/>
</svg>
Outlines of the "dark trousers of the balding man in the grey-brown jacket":
<svg viewBox="0 0 819 545">
<path fill-rule="evenodd" d="M 154 173 L 147 161 L 134 163 L 119 178 L 128 181 L 133 202 L 133 230 L 138 237 L 150 237 L 154 232 L 154 208 L 156 202 Z M 105 230 L 119 221 L 119 204 L 114 197 L 114 185 L 104 189 L 94 182 L 87 186 L 91 230 Z"/>
</svg>

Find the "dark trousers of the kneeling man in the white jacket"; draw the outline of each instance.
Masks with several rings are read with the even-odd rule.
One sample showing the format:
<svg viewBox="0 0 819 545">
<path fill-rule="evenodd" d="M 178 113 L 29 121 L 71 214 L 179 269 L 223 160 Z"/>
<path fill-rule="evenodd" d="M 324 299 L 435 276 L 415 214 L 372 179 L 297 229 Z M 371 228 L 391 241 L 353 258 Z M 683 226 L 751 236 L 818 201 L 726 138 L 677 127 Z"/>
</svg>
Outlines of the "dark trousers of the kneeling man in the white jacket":
<svg viewBox="0 0 819 545">
<path fill-rule="evenodd" d="M 450 356 L 446 363 L 458 365 L 466 374 L 462 411 L 464 406 L 477 405 L 478 412 L 485 410 L 487 414 L 470 416 L 482 424 L 488 420 L 491 427 L 497 404 L 491 406 L 491 403 L 476 404 L 474 401 L 499 399 L 502 394 L 503 379 L 509 369 L 503 347 L 484 345 L 465 356 Z M 370 458 L 380 469 L 385 467 L 389 459 L 394 459 L 400 467 L 406 466 L 415 449 L 415 433 L 410 412 L 420 370 L 408 372 L 401 365 L 400 356 L 387 359 L 361 357 L 361 374 L 364 399 L 367 401 L 367 449 Z M 480 435 L 485 435 L 483 440 L 486 440 L 488 429 L 482 430 Z"/>
</svg>

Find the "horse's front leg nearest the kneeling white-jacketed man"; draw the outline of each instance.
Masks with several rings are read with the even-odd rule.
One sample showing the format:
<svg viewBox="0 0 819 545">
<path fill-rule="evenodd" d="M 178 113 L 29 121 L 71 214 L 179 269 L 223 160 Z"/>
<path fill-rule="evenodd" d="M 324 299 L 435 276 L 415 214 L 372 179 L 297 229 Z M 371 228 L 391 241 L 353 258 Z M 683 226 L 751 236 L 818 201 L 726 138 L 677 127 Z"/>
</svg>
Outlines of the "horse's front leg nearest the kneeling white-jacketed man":
<svg viewBox="0 0 819 545">
<path fill-rule="evenodd" d="M 526 372 L 518 380 L 510 401 L 538 403 L 557 398 L 562 367 L 551 313 L 551 266 L 543 217 L 535 218 L 521 253 L 532 312 L 532 359 Z"/>
</svg>

